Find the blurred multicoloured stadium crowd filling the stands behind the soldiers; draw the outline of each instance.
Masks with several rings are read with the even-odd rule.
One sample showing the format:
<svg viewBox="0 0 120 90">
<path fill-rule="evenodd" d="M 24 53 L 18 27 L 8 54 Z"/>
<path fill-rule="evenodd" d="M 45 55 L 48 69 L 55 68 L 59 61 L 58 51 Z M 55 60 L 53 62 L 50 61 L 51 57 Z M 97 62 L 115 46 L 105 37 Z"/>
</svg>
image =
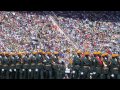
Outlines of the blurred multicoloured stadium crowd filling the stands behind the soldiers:
<svg viewBox="0 0 120 90">
<path fill-rule="evenodd" d="M 0 52 L 62 52 L 75 45 L 82 52 L 119 54 L 120 12 L 0 11 L 0 42 Z"/>
</svg>

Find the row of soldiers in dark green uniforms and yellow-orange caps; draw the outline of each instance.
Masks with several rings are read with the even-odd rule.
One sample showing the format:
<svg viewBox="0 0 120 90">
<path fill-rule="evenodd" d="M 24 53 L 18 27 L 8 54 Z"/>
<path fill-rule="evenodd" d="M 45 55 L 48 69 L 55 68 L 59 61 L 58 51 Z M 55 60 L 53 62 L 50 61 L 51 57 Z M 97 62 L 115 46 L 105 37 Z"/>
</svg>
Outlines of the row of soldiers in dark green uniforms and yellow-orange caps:
<svg viewBox="0 0 120 90">
<path fill-rule="evenodd" d="M 59 62 L 58 52 L 0 53 L 0 79 L 120 79 L 118 54 L 76 51 L 68 64 Z"/>
</svg>

